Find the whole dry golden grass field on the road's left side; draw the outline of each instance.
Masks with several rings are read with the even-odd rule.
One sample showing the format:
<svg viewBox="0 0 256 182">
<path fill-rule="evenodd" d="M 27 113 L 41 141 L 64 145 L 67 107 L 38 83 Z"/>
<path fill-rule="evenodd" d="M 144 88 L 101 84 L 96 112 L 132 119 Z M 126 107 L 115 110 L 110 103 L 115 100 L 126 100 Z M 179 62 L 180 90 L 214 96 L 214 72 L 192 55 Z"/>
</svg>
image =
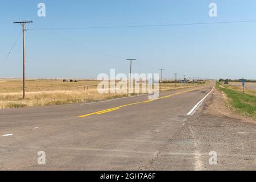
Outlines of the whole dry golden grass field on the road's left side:
<svg viewBox="0 0 256 182">
<path fill-rule="evenodd" d="M 62 80 L 26 80 L 26 98 L 22 99 L 22 80 L 0 80 L 0 109 L 11 107 L 32 107 L 71 104 L 89 101 L 102 101 L 112 98 L 127 97 L 129 94 L 99 94 L 99 81 L 78 80 L 78 82 L 62 82 Z M 162 90 L 179 89 L 199 84 L 163 84 Z M 77 89 L 77 86 L 79 88 Z M 84 90 L 83 86 L 88 86 Z M 134 94 L 130 94 L 134 95 Z"/>
</svg>

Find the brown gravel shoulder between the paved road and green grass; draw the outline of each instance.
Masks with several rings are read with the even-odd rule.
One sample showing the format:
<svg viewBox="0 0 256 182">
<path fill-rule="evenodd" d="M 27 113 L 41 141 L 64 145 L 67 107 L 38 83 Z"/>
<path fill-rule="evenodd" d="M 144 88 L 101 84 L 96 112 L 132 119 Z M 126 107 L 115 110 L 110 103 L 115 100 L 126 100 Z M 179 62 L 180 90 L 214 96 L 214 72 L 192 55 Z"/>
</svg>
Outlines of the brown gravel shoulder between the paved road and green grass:
<svg viewBox="0 0 256 182">
<path fill-rule="evenodd" d="M 230 110 L 222 93 L 215 89 L 183 129 L 194 141 L 193 169 L 255 170 L 255 124 L 253 119 Z M 217 152 L 217 165 L 209 164 L 211 151 Z"/>
</svg>

